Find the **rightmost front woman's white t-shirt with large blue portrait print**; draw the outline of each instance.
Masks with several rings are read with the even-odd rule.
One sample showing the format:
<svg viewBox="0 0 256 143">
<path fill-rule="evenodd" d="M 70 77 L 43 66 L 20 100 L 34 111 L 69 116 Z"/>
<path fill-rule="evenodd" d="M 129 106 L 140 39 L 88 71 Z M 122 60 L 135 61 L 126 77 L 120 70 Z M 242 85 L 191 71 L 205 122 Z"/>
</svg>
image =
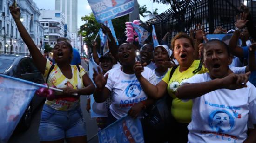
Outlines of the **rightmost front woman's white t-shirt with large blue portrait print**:
<svg viewBox="0 0 256 143">
<path fill-rule="evenodd" d="M 198 74 L 186 83 L 210 81 L 209 73 Z M 242 143 L 247 123 L 256 124 L 256 88 L 218 89 L 193 99 L 188 143 Z"/>
</svg>

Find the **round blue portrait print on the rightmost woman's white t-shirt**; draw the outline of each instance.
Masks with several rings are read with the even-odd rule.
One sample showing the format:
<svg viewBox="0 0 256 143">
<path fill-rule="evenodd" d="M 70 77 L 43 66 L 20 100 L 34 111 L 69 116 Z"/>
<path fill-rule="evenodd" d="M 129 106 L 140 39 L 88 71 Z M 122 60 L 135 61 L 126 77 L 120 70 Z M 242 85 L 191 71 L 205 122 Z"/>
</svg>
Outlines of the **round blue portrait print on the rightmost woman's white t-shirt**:
<svg viewBox="0 0 256 143">
<path fill-rule="evenodd" d="M 234 117 L 226 110 L 215 110 L 210 113 L 208 123 L 214 132 L 226 133 L 232 130 L 235 124 Z"/>
</svg>

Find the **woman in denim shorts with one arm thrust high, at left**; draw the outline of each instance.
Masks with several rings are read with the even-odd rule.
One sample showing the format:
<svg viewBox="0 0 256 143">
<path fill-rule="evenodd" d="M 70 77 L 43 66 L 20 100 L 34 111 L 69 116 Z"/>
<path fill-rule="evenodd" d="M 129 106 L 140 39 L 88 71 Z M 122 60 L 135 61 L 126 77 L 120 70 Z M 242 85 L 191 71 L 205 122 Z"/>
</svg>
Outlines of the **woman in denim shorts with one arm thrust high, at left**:
<svg viewBox="0 0 256 143">
<path fill-rule="evenodd" d="M 54 92 L 54 99 L 46 99 L 39 126 L 40 142 L 64 143 L 66 139 L 67 143 L 87 143 L 79 95 L 92 94 L 95 87 L 81 66 L 70 65 L 72 46 L 66 41 L 58 42 L 53 50 L 53 65 L 43 57 L 22 25 L 20 8 L 13 4 L 9 9 L 35 65 L 47 77 L 47 84 L 63 89 L 63 93 Z"/>
</svg>

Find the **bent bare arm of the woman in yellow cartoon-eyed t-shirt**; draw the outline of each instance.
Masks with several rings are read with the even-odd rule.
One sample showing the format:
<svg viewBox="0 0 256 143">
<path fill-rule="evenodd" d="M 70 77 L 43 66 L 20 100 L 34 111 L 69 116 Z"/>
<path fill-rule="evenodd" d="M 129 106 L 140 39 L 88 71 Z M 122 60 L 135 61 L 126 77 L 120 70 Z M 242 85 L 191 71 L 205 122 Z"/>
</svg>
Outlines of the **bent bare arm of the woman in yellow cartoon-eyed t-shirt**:
<svg viewBox="0 0 256 143">
<path fill-rule="evenodd" d="M 143 91 L 148 97 L 151 97 L 153 99 L 159 99 L 165 95 L 165 93 L 167 92 L 166 89 L 168 84 L 166 84 L 164 81 L 160 81 L 156 85 L 151 84 L 146 78 L 141 75 L 141 72 L 143 72 L 144 69 L 140 62 L 135 63 L 134 70 L 137 79 L 141 83 Z"/>
</svg>

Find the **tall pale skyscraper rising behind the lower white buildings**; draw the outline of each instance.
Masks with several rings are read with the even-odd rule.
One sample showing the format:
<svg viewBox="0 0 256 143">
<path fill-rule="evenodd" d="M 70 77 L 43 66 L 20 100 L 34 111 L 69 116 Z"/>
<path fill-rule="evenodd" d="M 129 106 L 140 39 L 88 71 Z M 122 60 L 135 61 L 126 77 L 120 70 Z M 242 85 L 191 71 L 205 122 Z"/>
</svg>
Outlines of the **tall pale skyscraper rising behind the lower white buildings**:
<svg viewBox="0 0 256 143">
<path fill-rule="evenodd" d="M 77 0 L 55 0 L 55 10 L 64 13 L 71 45 L 77 48 Z"/>
</svg>

